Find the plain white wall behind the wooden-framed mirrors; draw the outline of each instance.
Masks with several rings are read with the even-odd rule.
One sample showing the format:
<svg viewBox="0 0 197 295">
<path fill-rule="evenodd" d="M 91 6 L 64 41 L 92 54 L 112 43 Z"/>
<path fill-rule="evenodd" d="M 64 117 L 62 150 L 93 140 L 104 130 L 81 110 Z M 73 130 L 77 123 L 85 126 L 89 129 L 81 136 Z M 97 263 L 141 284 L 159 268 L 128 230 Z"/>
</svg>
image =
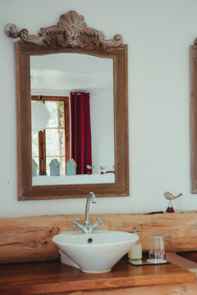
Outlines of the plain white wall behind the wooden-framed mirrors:
<svg viewBox="0 0 197 295">
<path fill-rule="evenodd" d="M 166 210 L 165 191 L 183 196 L 175 210 L 196 209 L 190 194 L 189 45 L 197 37 L 196 0 L 1 1 L 1 217 L 84 213 L 85 199 L 17 201 L 14 45 L 8 23 L 37 35 L 75 10 L 87 26 L 128 44 L 130 196 L 98 198 L 93 213 Z"/>
</svg>

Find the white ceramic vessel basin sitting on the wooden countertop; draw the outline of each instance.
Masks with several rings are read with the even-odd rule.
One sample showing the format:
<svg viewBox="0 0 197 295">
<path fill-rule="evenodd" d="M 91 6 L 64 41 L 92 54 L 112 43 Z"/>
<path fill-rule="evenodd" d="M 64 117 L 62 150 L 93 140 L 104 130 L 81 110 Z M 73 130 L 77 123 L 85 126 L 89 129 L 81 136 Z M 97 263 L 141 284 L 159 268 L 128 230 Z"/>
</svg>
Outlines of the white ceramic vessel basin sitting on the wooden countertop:
<svg viewBox="0 0 197 295">
<path fill-rule="evenodd" d="M 85 272 L 101 273 L 110 271 L 139 236 L 107 230 L 95 230 L 91 234 L 68 231 L 60 232 L 52 240 L 61 250 L 61 262 Z"/>
</svg>

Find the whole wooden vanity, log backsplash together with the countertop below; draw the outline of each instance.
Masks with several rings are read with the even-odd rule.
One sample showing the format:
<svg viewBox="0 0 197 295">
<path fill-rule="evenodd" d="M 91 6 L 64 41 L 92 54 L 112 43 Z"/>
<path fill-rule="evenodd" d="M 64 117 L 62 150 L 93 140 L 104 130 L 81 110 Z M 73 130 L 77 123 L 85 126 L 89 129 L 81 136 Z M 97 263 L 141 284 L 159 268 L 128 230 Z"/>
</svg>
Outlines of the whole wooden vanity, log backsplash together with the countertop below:
<svg viewBox="0 0 197 295">
<path fill-rule="evenodd" d="M 196 211 L 149 213 L 154 212 L 100 218 L 104 229 L 132 232 L 136 227 L 143 252 L 149 250 L 151 232 L 164 234 L 166 252 L 197 250 Z M 75 217 L 83 222 L 84 215 L 76 215 L 1 219 L 1 295 L 196 294 L 195 273 L 174 263 L 133 266 L 121 259 L 110 272 L 100 274 L 62 264 L 51 238 L 60 230 L 73 230 Z M 94 219 L 91 216 L 90 222 Z"/>
</svg>

